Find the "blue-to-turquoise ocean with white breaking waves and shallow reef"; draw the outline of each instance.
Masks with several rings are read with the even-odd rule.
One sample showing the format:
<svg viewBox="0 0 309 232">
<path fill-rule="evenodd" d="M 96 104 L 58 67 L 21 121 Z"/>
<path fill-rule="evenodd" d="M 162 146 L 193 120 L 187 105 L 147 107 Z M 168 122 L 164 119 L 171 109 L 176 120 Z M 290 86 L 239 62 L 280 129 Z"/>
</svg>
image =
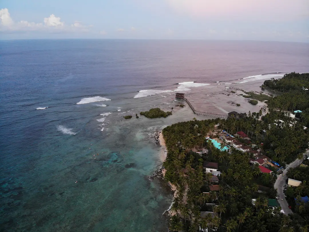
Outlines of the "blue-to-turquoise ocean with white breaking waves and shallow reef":
<svg viewBox="0 0 309 232">
<path fill-rule="evenodd" d="M 162 166 L 151 137 L 207 119 L 174 94 L 204 112 L 258 111 L 230 90 L 308 72 L 308 54 L 283 42 L 0 41 L 0 231 L 167 231 L 172 196 L 148 178 Z M 173 115 L 139 115 L 153 107 Z"/>
</svg>

